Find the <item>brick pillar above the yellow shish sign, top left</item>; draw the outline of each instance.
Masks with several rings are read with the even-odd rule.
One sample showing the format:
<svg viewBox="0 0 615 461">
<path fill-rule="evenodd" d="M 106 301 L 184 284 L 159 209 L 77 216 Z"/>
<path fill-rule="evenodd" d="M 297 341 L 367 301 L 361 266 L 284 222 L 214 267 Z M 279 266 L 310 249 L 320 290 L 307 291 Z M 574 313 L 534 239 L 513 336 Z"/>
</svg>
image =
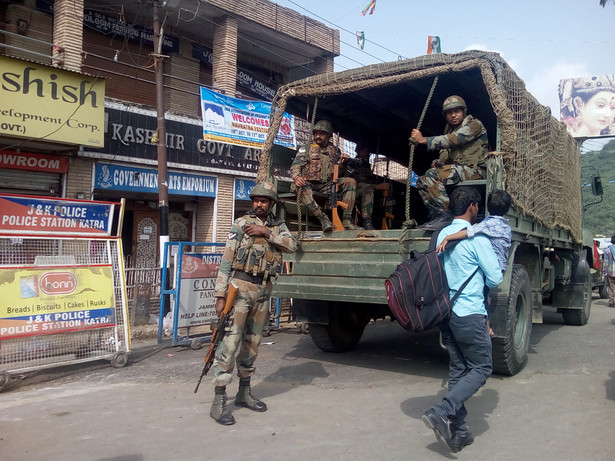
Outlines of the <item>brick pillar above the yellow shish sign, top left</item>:
<svg viewBox="0 0 615 461">
<path fill-rule="evenodd" d="M 55 0 L 53 5 L 54 64 L 81 71 L 83 51 L 83 0 Z"/>
</svg>

